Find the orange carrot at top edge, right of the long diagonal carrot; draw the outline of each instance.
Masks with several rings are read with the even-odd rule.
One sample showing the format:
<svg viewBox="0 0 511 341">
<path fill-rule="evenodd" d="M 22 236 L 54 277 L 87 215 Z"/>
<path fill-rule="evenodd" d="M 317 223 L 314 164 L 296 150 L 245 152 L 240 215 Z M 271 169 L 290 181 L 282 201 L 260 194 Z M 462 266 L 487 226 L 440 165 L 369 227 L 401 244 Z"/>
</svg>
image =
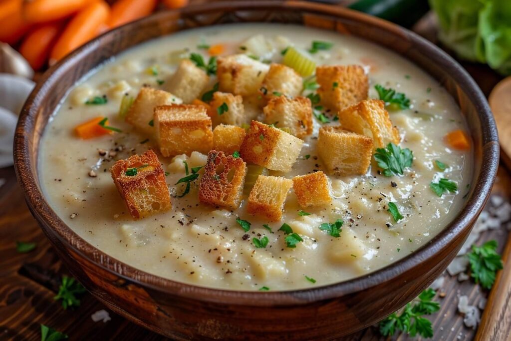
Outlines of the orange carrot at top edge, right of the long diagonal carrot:
<svg viewBox="0 0 511 341">
<path fill-rule="evenodd" d="M 157 4 L 158 0 L 118 0 L 112 5 L 108 27 L 113 29 L 149 15 Z"/>
</svg>

